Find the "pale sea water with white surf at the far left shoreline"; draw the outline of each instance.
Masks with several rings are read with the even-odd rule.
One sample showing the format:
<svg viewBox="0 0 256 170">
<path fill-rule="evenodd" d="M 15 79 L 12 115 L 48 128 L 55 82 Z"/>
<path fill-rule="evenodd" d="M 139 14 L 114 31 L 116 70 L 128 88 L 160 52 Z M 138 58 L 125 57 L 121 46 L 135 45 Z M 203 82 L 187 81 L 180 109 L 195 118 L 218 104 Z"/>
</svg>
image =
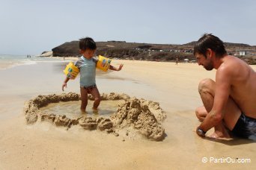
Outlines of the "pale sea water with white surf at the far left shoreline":
<svg viewBox="0 0 256 170">
<path fill-rule="evenodd" d="M 0 69 L 8 69 L 14 66 L 21 65 L 31 65 L 37 62 L 54 62 L 60 61 L 59 58 L 46 58 L 46 57 L 37 57 L 27 55 L 10 55 L 10 54 L 0 54 Z"/>
</svg>

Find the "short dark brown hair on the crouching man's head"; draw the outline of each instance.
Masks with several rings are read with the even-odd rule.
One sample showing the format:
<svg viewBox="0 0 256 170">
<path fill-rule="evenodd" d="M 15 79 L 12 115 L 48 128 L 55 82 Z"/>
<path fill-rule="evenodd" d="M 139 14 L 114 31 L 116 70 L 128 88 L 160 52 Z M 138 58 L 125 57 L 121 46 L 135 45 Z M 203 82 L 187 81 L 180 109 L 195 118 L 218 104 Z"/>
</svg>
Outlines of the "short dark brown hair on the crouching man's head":
<svg viewBox="0 0 256 170">
<path fill-rule="evenodd" d="M 206 57 L 208 48 L 215 52 L 216 57 L 223 57 L 224 54 L 227 54 L 224 43 L 219 37 L 216 37 L 213 34 L 204 34 L 197 42 L 195 42 L 194 55 L 195 53 L 198 53 L 203 54 L 204 57 Z"/>
</svg>

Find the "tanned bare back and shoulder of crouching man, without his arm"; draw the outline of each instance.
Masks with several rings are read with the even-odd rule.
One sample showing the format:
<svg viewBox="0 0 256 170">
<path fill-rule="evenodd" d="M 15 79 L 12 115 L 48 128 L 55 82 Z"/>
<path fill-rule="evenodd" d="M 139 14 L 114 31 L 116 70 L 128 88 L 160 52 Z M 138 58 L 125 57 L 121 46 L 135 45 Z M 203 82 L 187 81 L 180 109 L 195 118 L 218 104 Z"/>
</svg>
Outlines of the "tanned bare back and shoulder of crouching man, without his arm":
<svg viewBox="0 0 256 170">
<path fill-rule="evenodd" d="M 226 56 L 216 74 L 225 74 L 228 69 L 231 78 L 231 98 L 240 110 L 249 117 L 256 119 L 256 72 L 243 60 Z M 219 72 L 221 71 L 221 72 Z"/>
</svg>

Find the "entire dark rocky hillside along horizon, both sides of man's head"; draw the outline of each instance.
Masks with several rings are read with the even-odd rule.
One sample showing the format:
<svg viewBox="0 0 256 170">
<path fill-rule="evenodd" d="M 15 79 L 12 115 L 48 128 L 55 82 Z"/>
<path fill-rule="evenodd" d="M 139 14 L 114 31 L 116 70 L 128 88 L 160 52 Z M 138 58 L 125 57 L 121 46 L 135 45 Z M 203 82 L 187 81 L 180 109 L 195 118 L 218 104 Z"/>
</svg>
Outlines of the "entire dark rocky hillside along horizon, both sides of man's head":
<svg viewBox="0 0 256 170">
<path fill-rule="evenodd" d="M 124 41 L 97 42 L 97 55 L 105 57 L 132 59 L 132 60 L 156 60 L 156 61 L 174 61 L 189 59 L 195 60 L 193 56 L 193 46 L 195 42 L 189 42 L 183 45 L 171 44 L 147 44 Z M 230 54 L 236 54 L 237 50 L 255 51 L 256 47 L 247 44 L 225 42 L 225 47 Z M 55 48 L 52 48 L 53 57 L 79 57 L 79 41 L 65 42 Z M 253 53 L 246 56 L 238 56 L 247 63 L 256 64 L 256 55 Z"/>
</svg>

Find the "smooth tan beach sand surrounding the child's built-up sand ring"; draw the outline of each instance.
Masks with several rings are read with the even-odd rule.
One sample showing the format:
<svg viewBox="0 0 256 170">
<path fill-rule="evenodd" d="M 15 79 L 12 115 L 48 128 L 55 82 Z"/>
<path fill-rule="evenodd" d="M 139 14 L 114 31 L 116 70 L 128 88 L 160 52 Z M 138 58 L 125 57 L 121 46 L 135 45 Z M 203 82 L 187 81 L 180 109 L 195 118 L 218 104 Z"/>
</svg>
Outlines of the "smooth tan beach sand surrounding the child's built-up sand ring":
<svg viewBox="0 0 256 170">
<path fill-rule="evenodd" d="M 195 107 L 201 105 L 198 82 L 214 79 L 193 63 L 124 63 L 121 72 L 97 72 L 100 92 L 126 93 L 157 101 L 165 110 L 165 139 L 99 133 L 48 122 L 26 125 L 25 101 L 37 95 L 61 94 L 63 63 L 38 63 L 0 70 L 0 169 L 252 169 L 255 142 L 246 139 L 211 141 L 195 134 Z M 256 67 L 252 66 L 255 70 Z M 79 79 L 65 92 L 79 92 Z M 103 103 L 102 103 L 103 104 Z M 251 163 L 202 163 L 202 158 L 249 158 Z"/>
</svg>

